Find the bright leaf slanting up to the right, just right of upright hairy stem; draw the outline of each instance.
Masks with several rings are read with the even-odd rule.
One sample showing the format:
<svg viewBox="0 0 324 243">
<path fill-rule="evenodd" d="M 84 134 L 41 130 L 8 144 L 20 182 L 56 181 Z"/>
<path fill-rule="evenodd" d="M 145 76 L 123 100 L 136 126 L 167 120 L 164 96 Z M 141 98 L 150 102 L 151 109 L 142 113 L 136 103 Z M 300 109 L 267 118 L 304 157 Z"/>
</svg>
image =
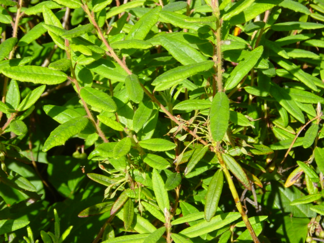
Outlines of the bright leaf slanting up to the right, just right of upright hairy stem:
<svg viewBox="0 0 324 243">
<path fill-rule="evenodd" d="M 244 76 L 250 72 L 250 70 L 258 62 L 262 53 L 263 47 L 257 47 L 251 52 L 251 54 L 246 59 L 240 61 L 238 65 L 234 68 L 234 70 L 229 74 L 224 89 L 233 89 L 242 80 L 242 78 L 244 78 Z"/>
</svg>

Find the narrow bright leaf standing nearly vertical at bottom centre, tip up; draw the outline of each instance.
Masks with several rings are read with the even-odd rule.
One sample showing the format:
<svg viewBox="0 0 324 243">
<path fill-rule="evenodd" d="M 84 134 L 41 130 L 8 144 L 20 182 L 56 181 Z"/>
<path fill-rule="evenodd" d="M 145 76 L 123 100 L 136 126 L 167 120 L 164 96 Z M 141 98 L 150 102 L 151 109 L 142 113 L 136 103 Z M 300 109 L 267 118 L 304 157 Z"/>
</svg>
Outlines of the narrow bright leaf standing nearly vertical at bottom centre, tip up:
<svg viewBox="0 0 324 243">
<path fill-rule="evenodd" d="M 156 197 L 156 202 L 158 204 L 158 207 L 162 212 L 164 212 L 165 209 L 169 211 L 170 202 L 169 202 L 168 191 L 164 188 L 165 184 L 162 177 L 155 169 L 153 169 L 152 172 L 152 183 L 153 183 L 153 191 Z"/>
</svg>

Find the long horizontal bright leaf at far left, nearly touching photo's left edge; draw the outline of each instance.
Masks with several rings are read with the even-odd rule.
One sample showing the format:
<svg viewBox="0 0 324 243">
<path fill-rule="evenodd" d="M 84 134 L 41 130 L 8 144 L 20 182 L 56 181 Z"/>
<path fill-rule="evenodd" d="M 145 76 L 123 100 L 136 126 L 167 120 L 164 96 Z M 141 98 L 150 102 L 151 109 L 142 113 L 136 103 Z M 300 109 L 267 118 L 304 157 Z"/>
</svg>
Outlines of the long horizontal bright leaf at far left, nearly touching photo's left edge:
<svg viewBox="0 0 324 243">
<path fill-rule="evenodd" d="M 38 66 L 7 67 L 3 74 L 22 82 L 45 85 L 61 84 L 67 77 L 64 72 Z"/>
</svg>

